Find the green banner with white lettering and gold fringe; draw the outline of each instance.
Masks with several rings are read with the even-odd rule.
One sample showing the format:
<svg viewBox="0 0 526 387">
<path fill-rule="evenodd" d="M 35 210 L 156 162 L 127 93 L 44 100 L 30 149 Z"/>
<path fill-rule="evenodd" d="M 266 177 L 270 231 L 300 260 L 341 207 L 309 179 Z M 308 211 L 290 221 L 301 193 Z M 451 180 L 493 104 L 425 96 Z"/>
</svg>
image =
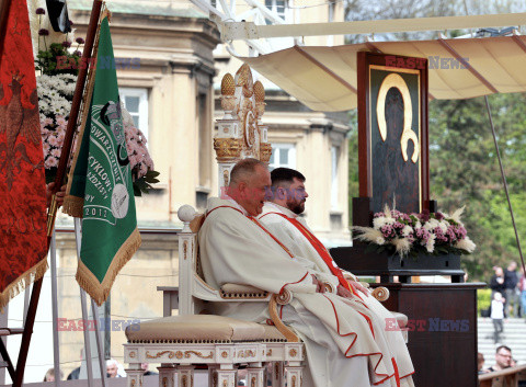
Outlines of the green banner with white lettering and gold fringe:
<svg viewBox="0 0 526 387">
<path fill-rule="evenodd" d="M 114 64 L 105 18 L 100 25 L 90 113 L 65 202 L 68 214 L 83 218 L 77 281 L 99 305 L 106 300 L 118 271 L 140 246 Z"/>
</svg>

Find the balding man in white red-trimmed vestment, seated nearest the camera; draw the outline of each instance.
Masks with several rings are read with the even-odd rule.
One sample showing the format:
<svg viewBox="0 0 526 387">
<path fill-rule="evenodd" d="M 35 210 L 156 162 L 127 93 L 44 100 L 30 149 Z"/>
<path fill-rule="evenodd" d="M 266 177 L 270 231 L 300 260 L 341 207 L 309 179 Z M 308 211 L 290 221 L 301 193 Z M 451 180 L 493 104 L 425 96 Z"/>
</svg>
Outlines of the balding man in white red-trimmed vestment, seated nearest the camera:
<svg viewBox="0 0 526 387">
<path fill-rule="evenodd" d="M 308 257 L 296 254 L 255 218 L 271 184 L 265 164 L 245 159 L 231 171 L 228 196 L 209 200 L 198 236 L 207 283 L 288 289 L 293 300 L 279 314 L 306 345 L 309 385 L 413 386 L 403 339 L 386 331 L 386 321 L 368 306 L 373 297 L 342 288 L 338 276 L 309 264 Z M 322 282 L 334 293 L 325 292 Z M 270 318 L 266 303 L 231 303 L 215 311 L 262 323 Z"/>
</svg>

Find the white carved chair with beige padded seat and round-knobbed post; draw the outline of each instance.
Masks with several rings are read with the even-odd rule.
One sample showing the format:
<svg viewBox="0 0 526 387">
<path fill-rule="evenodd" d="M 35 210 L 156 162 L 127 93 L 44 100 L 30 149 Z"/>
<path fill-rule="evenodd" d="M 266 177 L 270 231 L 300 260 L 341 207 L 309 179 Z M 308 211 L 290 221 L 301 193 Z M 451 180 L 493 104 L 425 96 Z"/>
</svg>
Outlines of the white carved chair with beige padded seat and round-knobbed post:
<svg viewBox="0 0 526 387">
<path fill-rule="evenodd" d="M 208 365 L 209 387 L 237 386 L 236 371 L 248 365 L 251 387 L 266 386 L 265 369 L 272 364 L 272 385 L 300 386 L 304 344 L 281 322 L 277 304 L 285 305 L 290 294 L 272 295 L 255 287 L 226 284 L 215 289 L 203 278 L 199 269 L 197 231 L 203 216 L 191 206 L 182 206 L 179 217 L 179 316 L 141 322 L 126 329 L 125 363 L 128 387 L 142 384 L 141 363 L 161 363 L 159 386 L 192 387 L 195 365 Z M 203 314 L 206 303 L 266 301 L 275 326 L 240 321 Z"/>
</svg>

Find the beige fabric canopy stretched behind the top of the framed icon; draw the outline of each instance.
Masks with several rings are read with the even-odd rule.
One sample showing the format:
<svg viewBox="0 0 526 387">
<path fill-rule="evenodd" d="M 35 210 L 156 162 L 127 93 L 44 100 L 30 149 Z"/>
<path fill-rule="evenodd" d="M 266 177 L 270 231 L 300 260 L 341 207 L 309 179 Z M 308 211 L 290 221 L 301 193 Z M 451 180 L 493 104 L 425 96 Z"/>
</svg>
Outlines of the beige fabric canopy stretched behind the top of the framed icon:
<svg viewBox="0 0 526 387">
<path fill-rule="evenodd" d="M 526 92 L 526 36 L 518 35 L 294 46 L 240 59 L 308 107 L 336 112 L 357 105 L 356 53 L 364 50 L 430 59 L 432 99 Z"/>
</svg>

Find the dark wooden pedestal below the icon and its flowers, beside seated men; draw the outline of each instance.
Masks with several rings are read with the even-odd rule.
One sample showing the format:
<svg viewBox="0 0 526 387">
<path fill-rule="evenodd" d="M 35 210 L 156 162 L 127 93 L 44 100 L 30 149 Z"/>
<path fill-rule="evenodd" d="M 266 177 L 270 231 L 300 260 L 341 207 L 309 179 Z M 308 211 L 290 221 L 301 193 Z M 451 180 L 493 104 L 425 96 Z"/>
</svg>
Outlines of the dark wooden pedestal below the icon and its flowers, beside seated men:
<svg viewBox="0 0 526 387">
<path fill-rule="evenodd" d="M 478 386 L 477 289 L 485 284 L 373 286 L 386 286 L 390 297 L 384 306 L 408 316 L 415 386 Z"/>
</svg>

